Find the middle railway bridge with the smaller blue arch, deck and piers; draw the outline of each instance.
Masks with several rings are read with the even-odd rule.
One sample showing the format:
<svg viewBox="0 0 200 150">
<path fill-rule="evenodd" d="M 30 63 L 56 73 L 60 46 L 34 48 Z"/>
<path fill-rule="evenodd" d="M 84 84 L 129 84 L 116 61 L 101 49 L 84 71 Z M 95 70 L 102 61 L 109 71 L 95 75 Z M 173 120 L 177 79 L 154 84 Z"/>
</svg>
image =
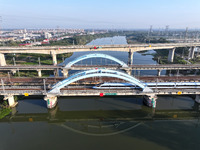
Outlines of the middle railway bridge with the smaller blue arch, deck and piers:
<svg viewBox="0 0 200 150">
<path fill-rule="evenodd" d="M 83 60 L 91 59 L 91 58 L 101 58 L 105 59 L 104 61 L 111 60 L 117 64 L 104 64 L 104 65 L 92 65 L 92 64 L 77 64 L 78 62 L 82 62 Z M 95 68 L 107 68 L 110 70 L 124 70 L 129 75 L 131 75 L 133 70 L 157 70 L 157 75 L 161 75 L 162 70 L 198 70 L 200 69 L 200 64 L 154 64 L 154 65 L 130 65 L 126 64 L 125 62 L 112 57 L 110 55 L 101 54 L 101 53 L 92 53 L 80 56 L 68 64 L 65 65 L 7 65 L 7 66 L 0 66 L 0 71 L 8 71 L 11 73 L 16 73 L 17 71 L 37 71 L 38 76 L 42 77 L 42 71 L 45 70 L 53 70 L 55 75 L 58 75 L 58 70 L 62 70 L 63 76 L 68 77 L 69 70 L 92 70 Z"/>
</svg>

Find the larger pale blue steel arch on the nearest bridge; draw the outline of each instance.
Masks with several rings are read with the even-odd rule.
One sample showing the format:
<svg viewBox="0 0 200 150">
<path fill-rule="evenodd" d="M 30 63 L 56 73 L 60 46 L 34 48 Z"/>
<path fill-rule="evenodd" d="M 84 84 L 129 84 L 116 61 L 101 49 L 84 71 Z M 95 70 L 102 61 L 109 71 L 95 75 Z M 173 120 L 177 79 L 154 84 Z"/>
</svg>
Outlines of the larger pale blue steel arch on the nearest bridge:
<svg viewBox="0 0 200 150">
<path fill-rule="evenodd" d="M 88 70 L 76 73 L 68 78 L 66 78 L 63 81 L 58 82 L 55 84 L 52 89 L 48 92 L 49 94 L 59 94 L 60 89 L 79 80 L 91 78 L 91 77 L 115 77 L 119 79 L 123 79 L 125 81 L 128 81 L 129 83 L 133 83 L 143 89 L 144 92 L 151 92 L 152 90 L 147 87 L 146 84 L 142 83 L 138 79 L 115 70 L 106 70 L 106 69 L 96 69 L 96 70 Z"/>
</svg>

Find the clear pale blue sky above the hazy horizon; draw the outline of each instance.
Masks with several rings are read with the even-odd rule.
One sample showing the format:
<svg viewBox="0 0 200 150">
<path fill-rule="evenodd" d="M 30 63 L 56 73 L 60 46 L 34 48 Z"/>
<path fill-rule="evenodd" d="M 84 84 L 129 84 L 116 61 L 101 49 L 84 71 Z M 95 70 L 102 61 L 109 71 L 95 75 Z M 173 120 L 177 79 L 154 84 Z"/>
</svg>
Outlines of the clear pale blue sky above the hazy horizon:
<svg viewBox="0 0 200 150">
<path fill-rule="evenodd" d="M 200 0 L 0 0 L 0 27 L 200 29 Z"/>
</svg>

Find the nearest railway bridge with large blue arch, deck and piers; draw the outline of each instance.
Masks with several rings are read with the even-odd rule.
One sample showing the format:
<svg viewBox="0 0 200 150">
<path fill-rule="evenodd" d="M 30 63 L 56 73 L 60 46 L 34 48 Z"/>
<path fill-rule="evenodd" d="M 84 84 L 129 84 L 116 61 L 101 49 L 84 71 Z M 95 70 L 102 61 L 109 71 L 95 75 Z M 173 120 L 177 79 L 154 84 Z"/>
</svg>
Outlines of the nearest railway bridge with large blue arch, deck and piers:
<svg viewBox="0 0 200 150">
<path fill-rule="evenodd" d="M 108 77 L 111 79 L 117 78 L 119 82 L 129 83 L 135 88 L 107 88 L 107 89 L 94 89 L 93 85 L 78 84 L 71 86 L 84 79 Z M 1 80 L 0 95 L 4 96 L 4 100 L 8 100 L 9 105 L 14 107 L 17 103 L 14 100 L 14 95 L 43 95 L 44 100 L 47 101 L 48 108 L 54 108 L 57 104 L 59 96 L 130 96 L 141 95 L 147 100 L 149 106 L 156 107 L 157 95 L 196 95 L 195 101 L 200 103 L 200 78 L 192 82 L 164 82 L 151 85 L 150 83 L 138 80 L 124 72 L 107 70 L 107 69 L 94 69 L 83 72 L 78 72 L 69 76 L 64 80 L 60 80 L 51 87 L 45 84 L 43 86 L 6 86 Z M 104 82 L 104 81 L 103 81 Z M 162 82 L 162 81 L 160 81 Z M 40 82 L 41 83 L 41 82 Z M 173 83 L 173 84 L 172 84 Z"/>
</svg>

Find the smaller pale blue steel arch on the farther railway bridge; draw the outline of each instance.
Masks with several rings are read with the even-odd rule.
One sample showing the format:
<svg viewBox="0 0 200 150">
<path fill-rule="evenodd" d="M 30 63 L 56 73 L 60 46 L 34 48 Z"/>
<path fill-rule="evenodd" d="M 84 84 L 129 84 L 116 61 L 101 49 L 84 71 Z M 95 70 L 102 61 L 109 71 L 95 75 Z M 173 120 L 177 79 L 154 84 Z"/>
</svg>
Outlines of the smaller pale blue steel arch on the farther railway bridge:
<svg viewBox="0 0 200 150">
<path fill-rule="evenodd" d="M 123 61 L 121 61 L 115 57 L 112 57 L 112 56 L 106 55 L 106 54 L 94 53 L 94 54 L 87 54 L 87 55 L 80 56 L 80 57 L 74 59 L 73 61 L 69 62 L 64 68 L 70 68 L 73 64 L 75 64 L 81 60 L 85 60 L 88 58 L 97 58 L 97 57 L 110 59 L 110 60 L 113 60 L 113 61 L 119 63 L 122 67 L 128 67 L 127 64 L 125 64 Z"/>
</svg>

